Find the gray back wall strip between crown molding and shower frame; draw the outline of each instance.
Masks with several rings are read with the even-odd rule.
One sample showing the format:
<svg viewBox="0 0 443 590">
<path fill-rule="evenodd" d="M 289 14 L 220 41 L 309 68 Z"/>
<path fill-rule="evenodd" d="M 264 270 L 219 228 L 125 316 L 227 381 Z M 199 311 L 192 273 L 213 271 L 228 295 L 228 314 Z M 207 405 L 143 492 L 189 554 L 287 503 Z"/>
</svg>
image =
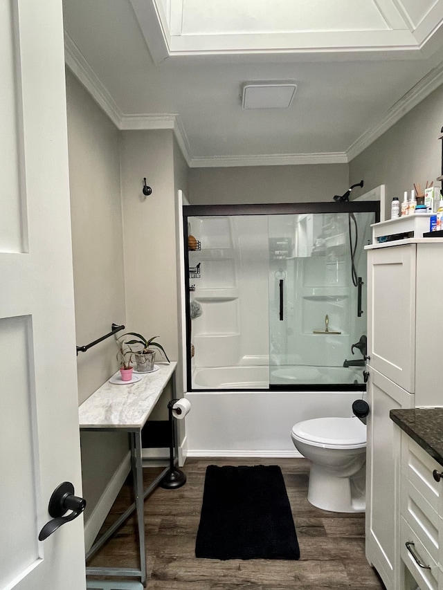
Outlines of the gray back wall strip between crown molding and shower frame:
<svg viewBox="0 0 443 590">
<path fill-rule="evenodd" d="M 348 187 L 347 164 L 191 168 L 192 205 L 330 201 Z"/>
</svg>

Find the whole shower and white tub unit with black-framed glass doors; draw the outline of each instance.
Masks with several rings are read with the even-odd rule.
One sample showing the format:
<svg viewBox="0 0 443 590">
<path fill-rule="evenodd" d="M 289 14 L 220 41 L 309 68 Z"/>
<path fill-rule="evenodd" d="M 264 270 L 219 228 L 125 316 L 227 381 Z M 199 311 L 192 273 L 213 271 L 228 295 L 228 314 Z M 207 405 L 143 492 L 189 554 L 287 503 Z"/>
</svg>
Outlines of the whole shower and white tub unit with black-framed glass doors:
<svg viewBox="0 0 443 590">
<path fill-rule="evenodd" d="M 297 457 L 294 423 L 365 396 L 379 203 L 183 208 L 188 456 Z"/>
</svg>

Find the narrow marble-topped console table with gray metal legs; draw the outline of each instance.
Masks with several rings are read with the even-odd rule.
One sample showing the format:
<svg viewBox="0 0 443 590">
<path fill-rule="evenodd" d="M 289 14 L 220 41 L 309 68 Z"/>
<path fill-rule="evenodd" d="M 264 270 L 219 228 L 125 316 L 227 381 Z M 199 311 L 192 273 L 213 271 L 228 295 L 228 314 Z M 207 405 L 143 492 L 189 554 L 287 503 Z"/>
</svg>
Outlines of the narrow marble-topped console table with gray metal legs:
<svg viewBox="0 0 443 590">
<path fill-rule="evenodd" d="M 143 508 L 145 498 L 159 485 L 169 470 L 165 468 L 148 486 L 143 487 L 143 460 L 141 456 L 141 430 L 149 418 L 152 409 L 159 400 L 166 385 L 172 380 L 172 397 L 176 397 L 175 369 L 177 362 L 159 363 L 159 370 L 139 374 L 141 379 L 129 385 L 114 385 L 107 381 L 99 387 L 79 407 L 80 430 L 97 432 L 128 432 L 131 447 L 131 469 L 134 477 L 135 502 L 89 549 L 86 559 L 92 557 L 107 540 L 114 535 L 134 510 L 137 515 L 138 546 L 140 549 L 140 569 L 87 567 L 87 575 L 127 576 L 140 578 L 146 586 L 145 525 Z M 177 436 L 175 437 L 177 441 Z M 175 448 L 177 457 L 177 444 Z"/>
</svg>

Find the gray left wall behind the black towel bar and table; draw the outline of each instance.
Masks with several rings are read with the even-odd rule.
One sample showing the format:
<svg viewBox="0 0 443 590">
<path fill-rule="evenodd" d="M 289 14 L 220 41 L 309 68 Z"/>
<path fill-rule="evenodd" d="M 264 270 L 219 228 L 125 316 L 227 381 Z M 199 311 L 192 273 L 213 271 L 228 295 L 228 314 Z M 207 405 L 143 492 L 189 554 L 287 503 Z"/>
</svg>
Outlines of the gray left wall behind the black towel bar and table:
<svg viewBox="0 0 443 590">
<path fill-rule="evenodd" d="M 73 75 L 66 72 L 69 182 L 73 239 L 75 330 L 87 344 L 125 323 L 118 130 Z M 117 369 L 109 338 L 79 353 L 79 404 Z M 125 434 L 82 434 L 85 520 L 127 455 Z"/>
</svg>

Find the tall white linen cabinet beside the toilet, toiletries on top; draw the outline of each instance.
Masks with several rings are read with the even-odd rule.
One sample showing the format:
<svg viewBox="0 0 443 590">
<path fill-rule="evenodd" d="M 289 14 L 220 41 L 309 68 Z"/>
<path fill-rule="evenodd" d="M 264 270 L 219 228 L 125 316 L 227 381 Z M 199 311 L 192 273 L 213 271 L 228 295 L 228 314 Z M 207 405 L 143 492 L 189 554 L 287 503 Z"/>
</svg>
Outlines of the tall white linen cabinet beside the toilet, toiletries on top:
<svg viewBox="0 0 443 590">
<path fill-rule="evenodd" d="M 400 436 L 389 411 L 443 403 L 438 313 L 443 300 L 443 243 L 440 239 L 408 239 L 368 246 L 367 250 L 366 557 L 386 589 L 397 590 Z"/>
</svg>

